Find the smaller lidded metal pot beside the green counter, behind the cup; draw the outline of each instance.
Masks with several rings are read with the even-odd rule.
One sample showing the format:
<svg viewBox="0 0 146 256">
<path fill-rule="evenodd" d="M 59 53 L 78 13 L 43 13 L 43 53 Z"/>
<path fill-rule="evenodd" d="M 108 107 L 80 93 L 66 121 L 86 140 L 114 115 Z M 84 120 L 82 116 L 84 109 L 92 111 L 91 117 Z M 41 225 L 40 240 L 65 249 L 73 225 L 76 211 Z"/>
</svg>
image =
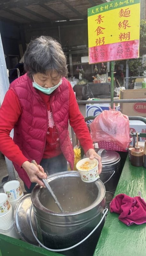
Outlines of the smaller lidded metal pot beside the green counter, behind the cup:
<svg viewBox="0 0 146 256">
<path fill-rule="evenodd" d="M 104 149 L 101 158 L 103 167 L 99 179 L 104 183 L 106 191 L 114 192 L 120 177 L 120 155 L 116 151 Z"/>
</svg>

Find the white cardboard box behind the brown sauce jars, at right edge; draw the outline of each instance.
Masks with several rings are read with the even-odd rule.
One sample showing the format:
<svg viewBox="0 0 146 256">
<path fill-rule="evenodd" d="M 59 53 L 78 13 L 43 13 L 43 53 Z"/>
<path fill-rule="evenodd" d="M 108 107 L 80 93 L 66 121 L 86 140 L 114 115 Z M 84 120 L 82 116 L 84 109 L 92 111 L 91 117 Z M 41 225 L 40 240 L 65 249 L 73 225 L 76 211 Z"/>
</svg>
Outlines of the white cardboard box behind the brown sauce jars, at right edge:
<svg viewBox="0 0 146 256">
<path fill-rule="evenodd" d="M 144 124 L 142 121 L 136 121 L 136 120 L 129 120 L 129 128 L 132 130 L 132 132 L 140 132 L 140 133 L 146 133 L 146 124 Z M 144 142 L 146 138 L 140 137 L 139 141 Z M 133 146 L 133 140 L 130 143 L 131 146 Z"/>
</svg>

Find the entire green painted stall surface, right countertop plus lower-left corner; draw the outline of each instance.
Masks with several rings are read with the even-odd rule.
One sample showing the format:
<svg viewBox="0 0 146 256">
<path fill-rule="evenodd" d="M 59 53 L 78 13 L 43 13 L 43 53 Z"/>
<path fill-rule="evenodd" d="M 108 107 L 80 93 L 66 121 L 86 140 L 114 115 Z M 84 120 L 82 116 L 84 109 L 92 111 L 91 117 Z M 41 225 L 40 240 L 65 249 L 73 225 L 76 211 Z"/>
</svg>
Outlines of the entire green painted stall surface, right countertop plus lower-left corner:
<svg viewBox="0 0 146 256">
<path fill-rule="evenodd" d="M 146 169 L 134 167 L 128 158 L 122 170 L 115 195 L 120 193 L 146 199 Z M 146 224 L 126 226 L 118 214 L 109 212 L 94 256 L 146 256 Z M 0 234 L 0 256 L 61 256 L 24 241 Z M 81 255 L 83 256 L 83 255 Z M 88 255 L 92 256 L 92 255 Z"/>
</svg>

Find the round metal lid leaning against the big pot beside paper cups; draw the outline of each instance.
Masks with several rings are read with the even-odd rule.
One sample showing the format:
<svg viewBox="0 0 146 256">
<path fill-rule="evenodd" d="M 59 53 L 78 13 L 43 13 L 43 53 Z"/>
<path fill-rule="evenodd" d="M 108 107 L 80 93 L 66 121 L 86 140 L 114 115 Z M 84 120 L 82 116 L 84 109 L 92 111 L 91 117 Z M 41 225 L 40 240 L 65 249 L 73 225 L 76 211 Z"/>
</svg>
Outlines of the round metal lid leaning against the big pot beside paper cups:
<svg viewBox="0 0 146 256">
<path fill-rule="evenodd" d="M 22 196 L 18 203 L 16 204 L 14 210 L 14 225 L 23 241 L 26 241 L 30 244 L 37 245 L 37 241 L 31 231 L 30 228 L 30 221 L 29 221 L 29 210 L 32 204 L 31 202 L 31 194 L 27 194 Z M 36 227 L 35 227 L 35 219 L 34 219 L 34 212 L 32 209 L 31 212 L 31 220 L 32 220 L 32 227 L 36 234 Z"/>
</svg>

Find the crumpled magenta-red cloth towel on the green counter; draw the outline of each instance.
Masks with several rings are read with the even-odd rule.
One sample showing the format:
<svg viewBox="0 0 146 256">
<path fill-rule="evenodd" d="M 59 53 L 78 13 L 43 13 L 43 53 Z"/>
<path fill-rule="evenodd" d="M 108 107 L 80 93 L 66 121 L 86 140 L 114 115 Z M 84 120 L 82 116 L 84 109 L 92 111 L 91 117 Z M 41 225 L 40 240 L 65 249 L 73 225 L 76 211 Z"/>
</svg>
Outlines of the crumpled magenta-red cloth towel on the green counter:
<svg viewBox="0 0 146 256">
<path fill-rule="evenodd" d="M 110 203 L 110 212 L 116 212 L 127 226 L 146 222 L 146 202 L 140 196 L 119 194 Z"/>
</svg>

